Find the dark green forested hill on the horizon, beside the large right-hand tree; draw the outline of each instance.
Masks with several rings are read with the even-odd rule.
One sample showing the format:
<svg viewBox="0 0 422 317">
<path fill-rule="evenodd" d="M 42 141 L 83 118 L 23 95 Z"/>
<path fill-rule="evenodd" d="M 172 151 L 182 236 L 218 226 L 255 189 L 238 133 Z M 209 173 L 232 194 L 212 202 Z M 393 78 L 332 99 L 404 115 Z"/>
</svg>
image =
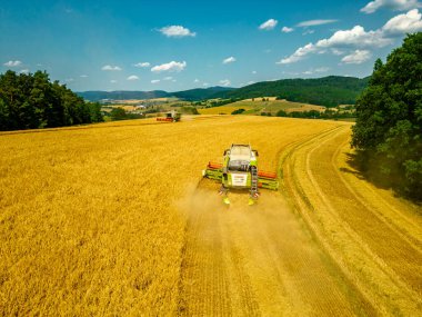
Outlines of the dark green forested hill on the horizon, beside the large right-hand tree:
<svg viewBox="0 0 422 317">
<path fill-rule="evenodd" d="M 358 96 L 368 86 L 369 78 L 329 76 L 315 79 L 283 79 L 257 82 L 232 91 L 219 93 L 221 98 L 278 97 L 289 101 L 325 107 L 354 105 Z"/>
</svg>

